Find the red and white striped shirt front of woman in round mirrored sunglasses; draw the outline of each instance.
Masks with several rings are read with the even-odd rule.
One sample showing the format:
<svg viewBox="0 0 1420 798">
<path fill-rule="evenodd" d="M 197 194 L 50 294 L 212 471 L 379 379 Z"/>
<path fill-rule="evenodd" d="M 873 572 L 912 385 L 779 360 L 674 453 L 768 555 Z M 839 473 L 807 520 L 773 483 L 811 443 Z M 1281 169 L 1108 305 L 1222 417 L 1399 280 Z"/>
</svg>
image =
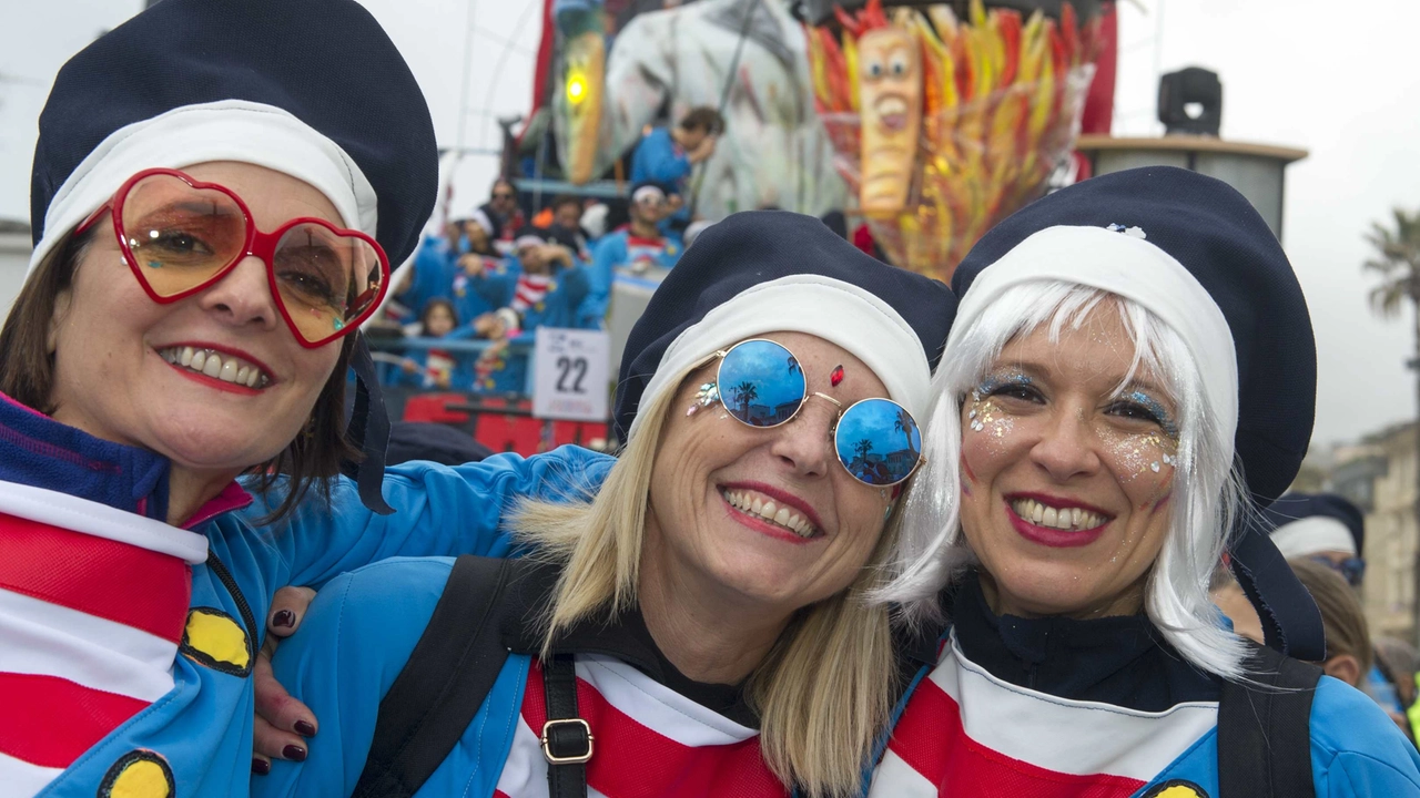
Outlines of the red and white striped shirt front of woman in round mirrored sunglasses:
<svg viewBox="0 0 1420 798">
<path fill-rule="evenodd" d="M 578 716 L 592 728 L 589 798 L 787 798 L 764 764 L 757 730 L 660 684 L 615 657 L 577 656 Z M 497 798 L 545 798 L 542 672 L 528 672 Z"/>
</svg>

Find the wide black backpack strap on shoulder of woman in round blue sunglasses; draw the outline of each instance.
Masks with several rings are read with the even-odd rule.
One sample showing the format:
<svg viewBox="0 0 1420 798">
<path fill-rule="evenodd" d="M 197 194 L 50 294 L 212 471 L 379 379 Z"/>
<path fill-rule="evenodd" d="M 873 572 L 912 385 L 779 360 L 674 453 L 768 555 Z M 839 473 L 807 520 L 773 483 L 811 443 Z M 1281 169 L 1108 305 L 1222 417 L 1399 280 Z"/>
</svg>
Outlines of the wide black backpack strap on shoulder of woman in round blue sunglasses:
<svg viewBox="0 0 1420 798">
<path fill-rule="evenodd" d="M 379 703 L 352 798 L 409 798 L 453 751 L 508 659 L 497 611 L 518 562 L 454 561 L 429 626 Z"/>
</svg>

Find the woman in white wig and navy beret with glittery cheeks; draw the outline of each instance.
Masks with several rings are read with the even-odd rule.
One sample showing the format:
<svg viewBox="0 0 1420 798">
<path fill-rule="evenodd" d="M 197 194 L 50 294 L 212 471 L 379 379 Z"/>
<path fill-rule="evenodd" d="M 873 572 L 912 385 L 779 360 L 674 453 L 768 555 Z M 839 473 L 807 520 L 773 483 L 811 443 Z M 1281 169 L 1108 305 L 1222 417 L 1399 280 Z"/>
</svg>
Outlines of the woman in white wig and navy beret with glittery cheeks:
<svg viewBox="0 0 1420 798">
<path fill-rule="evenodd" d="M 1295 476 L 1315 393 L 1301 288 L 1247 200 L 1179 169 L 1086 180 L 953 288 L 882 592 L 950 626 L 870 795 L 1420 795 L 1394 724 L 1298 662 L 1319 625 L 1275 548 L 1228 535 Z M 1228 557 L 1298 659 L 1208 602 Z"/>
</svg>

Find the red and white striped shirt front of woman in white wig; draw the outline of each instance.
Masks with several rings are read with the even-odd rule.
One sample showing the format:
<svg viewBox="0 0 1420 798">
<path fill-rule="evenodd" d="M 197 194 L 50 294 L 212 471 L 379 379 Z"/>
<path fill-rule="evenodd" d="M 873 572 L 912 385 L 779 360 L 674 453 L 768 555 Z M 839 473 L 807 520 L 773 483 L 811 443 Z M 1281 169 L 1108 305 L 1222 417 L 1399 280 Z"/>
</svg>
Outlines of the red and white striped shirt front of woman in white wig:
<svg viewBox="0 0 1420 798">
<path fill-rule="evenodd" d="M 1217 701 L 1147 713 L 1003 682 L 944 646 L 893 728 L 869 798 L 1127 798 L 1217 726 Z"/>
</svg>

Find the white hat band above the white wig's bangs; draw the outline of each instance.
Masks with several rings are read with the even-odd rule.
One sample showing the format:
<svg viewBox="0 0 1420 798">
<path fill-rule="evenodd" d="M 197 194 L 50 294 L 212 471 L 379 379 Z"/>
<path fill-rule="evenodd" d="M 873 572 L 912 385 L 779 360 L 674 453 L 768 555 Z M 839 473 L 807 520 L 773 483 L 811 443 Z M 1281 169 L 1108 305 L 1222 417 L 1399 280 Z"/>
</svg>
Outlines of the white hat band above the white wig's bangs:
<svg viewBox="0 0 1420 798">
<path fill-rule="evenodd" d="M 957 305 L 947 356 L 977 318 L 1012 285 L 1058 280 L 1100 288 L 1149 308 L 1187 344 L 1203 390 L 1231 442 L 1238 425 L 1238 366 L 1223 310 L 1187 268 L 1147 237 L 1105 227 L 1047 227 L 981 270 Z M 1142 236 L 1147 236 L 1147 230 Z"/>
</svg>

